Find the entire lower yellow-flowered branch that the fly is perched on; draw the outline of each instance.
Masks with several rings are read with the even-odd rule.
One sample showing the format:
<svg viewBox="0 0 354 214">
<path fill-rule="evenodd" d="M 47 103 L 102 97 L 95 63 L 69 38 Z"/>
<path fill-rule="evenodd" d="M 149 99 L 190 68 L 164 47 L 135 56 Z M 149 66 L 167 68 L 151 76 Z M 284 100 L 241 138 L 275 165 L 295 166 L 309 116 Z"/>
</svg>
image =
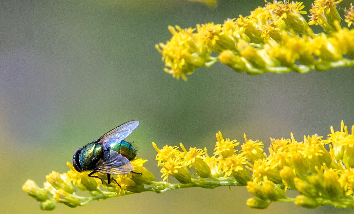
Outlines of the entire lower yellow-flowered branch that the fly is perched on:
<svg viewBox="0 0 354 214">
<path fill-rule="evenodd" d="M 305 208 L 332 205 L 354 209 L 353 133 L 354 126 L 349 134 L 342 121 L 340 131 L 335 132 L 331 127 L 326 140 L 316 134 L 304 136 L 303 141 L 295 140 L 292 134 L 288 139 L 271 138 L 269 154 L 263 151 L 263 142 L 247 139 L 245 134 L 245 143 L 240 145 L 237 140 L 224 139 L 218 132 L 212 156 L 206 148 L 187 150 L 180 144 L 180 148 L 165 145 L 159 149 L 153 142 L 163 181 L 155 181 L 154 175 L 143 166 L 147 161 L 143 159 L 132 162 L 135 173 L 117 175 L 117 183 L 110 184 L 105 180 L 107 175 L 97 173 L 99 178 L 88 177 L 89 172 L 77 172 L 68 162 L 70 170 L 63 174 L 53 171 L 46 176 L 43 188 L 27 180 L 22 189 L 39 201 L 44 210 L 54 209 L 58 202 L 77 207 L 133 193 L 220 186 L 246 186 L 255 196 L 247 200 L 251 208 L 265 209 L 273 202 L 293 202 Z M 326 144 L 330 145 L 329 151 L 324 147 Z M 167 182 L 170 176 L 179 183 Z M 288 190 L 299 194 L 287 197 Z M 80 191 L 91 196 L 79 196 Z"/>
</svg>

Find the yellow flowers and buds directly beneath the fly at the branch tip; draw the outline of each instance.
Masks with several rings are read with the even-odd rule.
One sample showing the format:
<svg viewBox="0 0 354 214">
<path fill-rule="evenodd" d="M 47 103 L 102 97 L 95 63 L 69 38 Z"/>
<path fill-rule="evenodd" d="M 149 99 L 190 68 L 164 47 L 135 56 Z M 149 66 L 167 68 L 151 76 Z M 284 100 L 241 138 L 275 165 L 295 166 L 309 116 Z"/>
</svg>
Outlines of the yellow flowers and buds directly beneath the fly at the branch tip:
<svg viewBox="0 0 354 214">
<path fill-rule="evenodd" d="M 104 180 L 107 180 L 107 175 L 96 173 L 103 180 L 104 183 L 102 184 L 100 179 L 88 177 L 87 175 L 90 172 L 77 172 L 72 164 L 67 162 L 70 170 L 62 174 L 53 171 L 47 175 L 47 181 L 43 184 L 44 188 L 38 187 L 33 180 L 27 180 L 22 189 L 39 201 L 40 208 L 43 210 L 54 209 L 58 202 L 69 207 L 85 206 L 92 200 L 147 191 L 144 184 L 152 184 L 155 181 L 155 177 L 143 166 L 146 161 L 137 159 L 132 162 L 136 173 L 117 175 L 115 180 L 119 185 L 115 182 L 107 184 Z M 137 173 L 141 173 L 141 175 Z M 88 191 L 91 197 L 76 195 L 74 186 L 81 191 Z M 103 191 L 101 186 L 106 191 Z"/>
</svg>

